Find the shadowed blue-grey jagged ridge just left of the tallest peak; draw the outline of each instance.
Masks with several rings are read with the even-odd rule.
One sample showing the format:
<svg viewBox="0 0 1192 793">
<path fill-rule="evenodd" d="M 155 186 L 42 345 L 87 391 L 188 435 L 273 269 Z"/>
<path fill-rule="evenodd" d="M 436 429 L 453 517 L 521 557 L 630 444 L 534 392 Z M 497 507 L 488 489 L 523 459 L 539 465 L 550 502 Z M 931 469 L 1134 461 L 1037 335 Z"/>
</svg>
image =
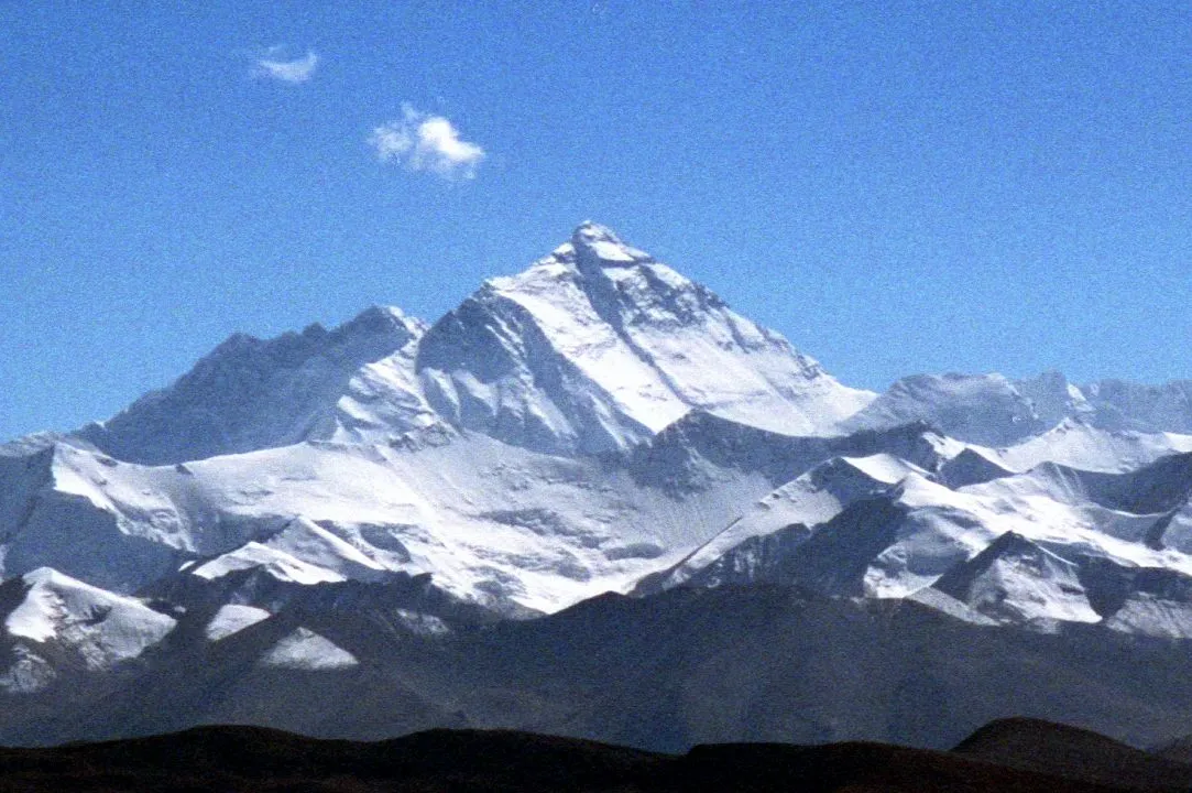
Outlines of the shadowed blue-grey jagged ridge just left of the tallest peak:
<svg viewBox="0 0 1192 793">
<path fill-rule="evenodd" d="M 144 464 L 377 427 L 399 435 L 435 421 L 412 386 L 414 351 L 424 329 L 396 308 L 374 306 L 334 330 L 312 324 L 271 340 L 237 334 L 169 388 L 79 434 L 122 460 Z"/>
</svg>

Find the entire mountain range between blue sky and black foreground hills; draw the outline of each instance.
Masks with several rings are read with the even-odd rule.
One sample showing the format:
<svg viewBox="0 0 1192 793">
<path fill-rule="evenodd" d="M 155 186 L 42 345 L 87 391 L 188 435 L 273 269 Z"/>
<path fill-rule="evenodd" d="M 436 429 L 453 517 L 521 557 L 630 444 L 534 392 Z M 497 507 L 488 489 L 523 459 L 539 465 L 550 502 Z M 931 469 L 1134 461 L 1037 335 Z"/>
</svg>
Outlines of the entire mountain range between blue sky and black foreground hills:
<svg viewBox="0 0 1192 793">
<path fill-rule="evenodd" d="M 974 705 L 964 687 L 988 693 L 985 720 L 1035 700 L 936 658 L 943 640 L 893 638 L 883 609 L 989 652 L 1049 642 L 1069 661 L 1115 648 L 1182 663 L 1154 653 L 1192 640 L 1188 394 L 1055 373 L 850 389 L 585 223 L 430 326 L 373 308 L 331 330 L 232 336 L 106 422 L 0 446 L 0 701 L 26 714 L 0 736 L 248 720 L 358 737 L 548 727 L 669 749 L 935 745 Z M 786 593 L 774 608 L 822 632 L 787 648 L 809 653 L 794 683 L 769 676 L 786 661 L 739 644 L 775 634 L 734 621 L 734 591 Z M 617 636 L 628 602 L 640 634 Z M 673 608 L 699 627 L 669 621 Z M 559 625 L 607 642 L 581 652 Z M 706 665 L 679 662 L 693 652 Z M 859 686 L 831 669 L 853 663 L 884 670 L 884 720 L 805 690 Z M 756 673 L 778 701 L 834 715 L 707 693 L 718 664 L 738 688 Z M 1048 669 L 1063 694 L 1041 700 L 1085 701 Z M 308 684 L 321 687 L 308 710 L 275 696 Z M 180 720 L 138 715 L 184 689 Z M 581 707 L 603 689 L 606 712 Z M 652 690 L 669 699 L 642 712 Z M 1129 706 L 1031 714 L 1125 738 L 1151 708 L 1161 731 L 1192 732 L 1157 694 L 1113 695 Z M 340 704 L 361 696 L 389 710 Z M 759 710 L 708 710 L 733 698 Z M 950 704 L 937 725 L 915 715 L 932 701 Z"/>
</svg>

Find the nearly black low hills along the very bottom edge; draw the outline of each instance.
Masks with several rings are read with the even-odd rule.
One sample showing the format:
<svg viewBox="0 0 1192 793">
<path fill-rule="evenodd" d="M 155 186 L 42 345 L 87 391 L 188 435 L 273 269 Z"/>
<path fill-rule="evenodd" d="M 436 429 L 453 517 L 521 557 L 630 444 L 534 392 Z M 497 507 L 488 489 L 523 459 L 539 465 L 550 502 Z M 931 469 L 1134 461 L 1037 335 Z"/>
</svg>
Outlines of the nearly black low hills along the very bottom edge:
<svg viewBox="0 0 1192 793">
<path fill-rule="evenodd" d="M 1031 737 L 1042 741 L 1050 757 L 1047 773 L 1014 767 L 1024 758 L 1018 739 Z M 1113 743 L 1047 723 L 1002 724 L 992 733 L 987 730 L 973 738 L 976 744 L 995 744 L 1005 750 L 999 762 L 989 762 L 957 752 L 877 743 L 715 744 L 696 746 L 687 755 L 663 755 L 513 731 L 434 730 L 393 741 L 354 743 L 260 727 L 218 726 L 56 749 L 4 749 L 0 791 L 1186 789 L 1179 783 L 1138 785 L 1148 762 L 1159 769 L 1159 776 L 1181 769 L 1141 751 L 1122 779 L 1082 779 L 1082 750 L 1098 739 L 1103 748 Z M 1192 769 L 1182 770 L 1186 782 Z"/>
</svg>

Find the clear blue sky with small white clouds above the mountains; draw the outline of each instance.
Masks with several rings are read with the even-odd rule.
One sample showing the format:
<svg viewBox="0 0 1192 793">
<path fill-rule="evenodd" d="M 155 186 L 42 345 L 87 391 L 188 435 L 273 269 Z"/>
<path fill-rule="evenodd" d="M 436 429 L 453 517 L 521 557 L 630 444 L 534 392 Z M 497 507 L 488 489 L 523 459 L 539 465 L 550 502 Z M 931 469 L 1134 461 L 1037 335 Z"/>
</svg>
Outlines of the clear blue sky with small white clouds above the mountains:
<svg viewBox="0 0 1192 793">
<path fill-rule="evenodd" d="M 591 218 L 842 380 L 1192 377 L 1187 2 L 0 0 L 0 439 Z"/>
</svg>

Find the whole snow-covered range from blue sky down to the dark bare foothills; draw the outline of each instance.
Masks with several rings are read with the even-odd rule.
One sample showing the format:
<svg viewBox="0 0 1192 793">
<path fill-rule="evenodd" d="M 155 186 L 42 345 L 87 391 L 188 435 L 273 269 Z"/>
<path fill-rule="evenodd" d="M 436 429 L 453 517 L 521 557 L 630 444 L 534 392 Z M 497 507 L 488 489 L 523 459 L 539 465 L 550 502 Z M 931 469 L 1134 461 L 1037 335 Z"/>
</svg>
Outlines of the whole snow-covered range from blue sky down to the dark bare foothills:
<svg viewBox="0 0 1192 793">
<path fill-rule="evenodd" d="M 585 223 L 430 327 L 373 308 L 234 336 L 103 425 L 0 447 L 0 576 L 36 580 L 20 625 L 50 626 L 36 593 L 77 580 L 130 636 L 172 619 L 137 593 L 201 606 L 219 646 L 297 602 L 432 636 L 465 612 L 765 582 L 1192 637 L 1186 385 L 850 389 Z M 278 668 L 352 665 L 311 631 Z"/>
</svg>

